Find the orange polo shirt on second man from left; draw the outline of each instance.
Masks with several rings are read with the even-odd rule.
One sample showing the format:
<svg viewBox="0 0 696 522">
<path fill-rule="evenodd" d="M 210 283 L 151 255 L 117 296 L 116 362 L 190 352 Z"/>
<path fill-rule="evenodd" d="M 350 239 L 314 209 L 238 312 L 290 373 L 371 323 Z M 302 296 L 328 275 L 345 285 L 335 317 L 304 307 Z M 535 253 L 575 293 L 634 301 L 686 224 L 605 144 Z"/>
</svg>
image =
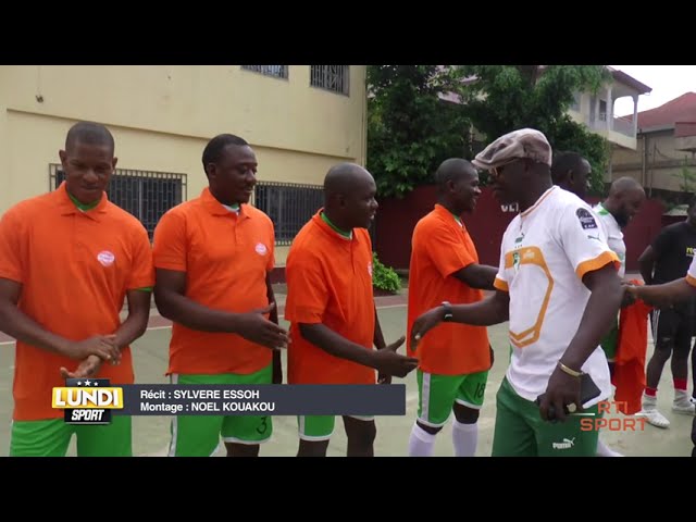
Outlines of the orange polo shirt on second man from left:
<svg viewBox="0 0 696 522">
<path fill-rule="evenodd" d="M 166 212 L 154 229 L 156 269 L 186 272 L 186 297 L 213 310 L 246 313 L 269 304 L 271 219 L 249 204 L 239 214 L 210 189 Z M 172 325 L 167 374 L 249 374 L 271 364 L 269 348 L 236 334 Z"/>
</svg>

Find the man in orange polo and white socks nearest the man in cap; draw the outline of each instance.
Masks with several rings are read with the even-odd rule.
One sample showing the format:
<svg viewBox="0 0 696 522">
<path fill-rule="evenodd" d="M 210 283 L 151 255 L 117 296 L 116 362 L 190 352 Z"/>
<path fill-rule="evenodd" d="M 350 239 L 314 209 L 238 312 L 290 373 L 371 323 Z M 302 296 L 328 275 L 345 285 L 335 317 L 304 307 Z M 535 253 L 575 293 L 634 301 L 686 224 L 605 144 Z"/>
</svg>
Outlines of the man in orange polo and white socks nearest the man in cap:
<svg viewBox="0 0 696 522">
<path fill-rule="evenodd" d="M 494 289 L 498 269 L 478 264 L 478 254 L 461 221 L 481 195 L 478 174 L 467 160 L 452 158 L 435 173 L 437 203 L 413 229 L 409 270 L 408 331 L 415 318 L 443 302 L 465 304 Z M 435 436 L 450 412 L 457 457 L 473 457 L 488 370 L 493 364 L 485 326 L 447 323 L 430 332 L 418 349 L 418 419 L 409 439 L 409 456 L 431 457 Z"/>
</svg>

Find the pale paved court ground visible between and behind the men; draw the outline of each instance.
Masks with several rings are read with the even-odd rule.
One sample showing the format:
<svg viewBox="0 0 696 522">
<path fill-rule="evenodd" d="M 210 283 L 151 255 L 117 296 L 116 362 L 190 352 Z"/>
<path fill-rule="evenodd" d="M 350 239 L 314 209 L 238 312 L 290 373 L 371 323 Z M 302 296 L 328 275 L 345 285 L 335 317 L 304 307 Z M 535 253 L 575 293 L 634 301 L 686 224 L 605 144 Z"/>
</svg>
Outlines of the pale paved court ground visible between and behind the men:
<svg viewBox="0 0 696 522">
<path fill-rule="evenodd" d="M 284 302 L 284 296 L 278 295 L 278 303 Z M 387 343 L 406 333 L 406 294 L 400 296 L 377 298 L 380 320 Z M 167 343 L 171 330 L 169 322 L 153 310 L 150 330 L 134 344 L 134 359 L 136 380 L 140 383 L 166 383 Z M 480 420 L 480 437 L 477 456 L 490 455 L 493 426 L 495 421 L 495 394 L 507 369 L 508 341 L 507 323 L 488 328 L 490 340 L 496 352 L 496 363 L 490 373 L 485 403 Z M 651 345 L 648 348 L 651 353 Z M 649 357 L 648 353 L 648 357 Z M 12 371 L 14 349 L 11 341 L 0 338 L 0 456 L 7 456 L 9 449 L 10 418 L 12 412 Z M 375 453 L 377 456 L 405 456 L 408 438 L 417 409 L 418 390 L 415 373 L 406 380 L 396 380 L 407 384 L 407 415 L 381 417 L 377 419 L 377 440 Z M 692 443 L 689 438 L 692 418 L 673 413 L 670 409 L 672 400 L 671 373 L 666 368 L 659 406 L 662 413 L 672 422 L 668 430 L 659 430 L 647 425 L 644 432 L 607 432 L 605 440 L 614 449 L 626 456 L 689 456 Z M 622 415 L 613 415 L 622 417 Z M 166 417 L 135 417 L 134 418 L 134 451 L 137 456 L 163 456 L 169 443 L 170 419 Z M 330 456 L 345 455 L 346 437 L 341 423 L 336 426 L 334 438 L 328 448 Z M 293 457 L 297 451 L 297 424 L 295 418 L 274 418 L 274 436 L 261 449 L 263 456 Z M 451 456 L 450 427 L 440 432 L 436 445 L 437 456 Z M 74 455 L 74 444 L 70 449 Z M 221 455 L 221 452 L 219 452 Z"/>
</svg>

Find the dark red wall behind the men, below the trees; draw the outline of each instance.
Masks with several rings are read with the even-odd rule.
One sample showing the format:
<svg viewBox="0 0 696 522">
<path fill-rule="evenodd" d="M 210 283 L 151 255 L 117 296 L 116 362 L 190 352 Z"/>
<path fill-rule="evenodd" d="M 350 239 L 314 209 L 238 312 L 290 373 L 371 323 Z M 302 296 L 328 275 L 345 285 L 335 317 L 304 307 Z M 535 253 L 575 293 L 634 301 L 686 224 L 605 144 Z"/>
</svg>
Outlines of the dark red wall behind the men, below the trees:
<svg viewBox="0 0 696 522">
<path fill-rule="evenodd" d="M 381 261 L 395 269 L 408 269 L 411 256 L 411 234 L 415 223 L 435 204 L 435 187 L 419 187 L 403 199 L 384 199 L 375 220 L 375 250 Z M 597 199 L 589 201 L 592 204 Z M 637 271 L 637 259 L 660 228 L 669 223 L 662 217 L 663 208 L 657 200 L 647 200 L 641 212 L 624 231 L 626 270 Z M 493 191 L 483 188 L 473 214 L 464 215 L 464 223 L 483 264 L 497 266 L 500 260 L 502 234 L 517 215 L 517 208 L 501 208 Z M 678 220 L 679 221 L 679 220 Z"/>
</svg>

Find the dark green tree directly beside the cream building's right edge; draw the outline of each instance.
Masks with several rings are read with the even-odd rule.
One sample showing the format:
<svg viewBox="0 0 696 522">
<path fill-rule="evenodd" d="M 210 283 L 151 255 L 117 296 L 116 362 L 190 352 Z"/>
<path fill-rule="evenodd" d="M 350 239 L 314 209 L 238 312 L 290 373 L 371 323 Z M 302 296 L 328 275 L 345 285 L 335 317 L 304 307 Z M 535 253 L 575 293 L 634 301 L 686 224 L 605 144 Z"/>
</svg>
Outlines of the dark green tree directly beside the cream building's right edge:
<svg viewBox="0 0 696 522">
<path fill-rule="evenodd" d="M 442 98 L 461 78 L 449 65 L 368 66 L 368 170 L 380 196 L 431 184 L 439 163 L 470 154 L 467 108 Z"/>
</svg>

